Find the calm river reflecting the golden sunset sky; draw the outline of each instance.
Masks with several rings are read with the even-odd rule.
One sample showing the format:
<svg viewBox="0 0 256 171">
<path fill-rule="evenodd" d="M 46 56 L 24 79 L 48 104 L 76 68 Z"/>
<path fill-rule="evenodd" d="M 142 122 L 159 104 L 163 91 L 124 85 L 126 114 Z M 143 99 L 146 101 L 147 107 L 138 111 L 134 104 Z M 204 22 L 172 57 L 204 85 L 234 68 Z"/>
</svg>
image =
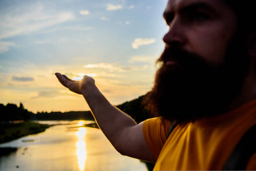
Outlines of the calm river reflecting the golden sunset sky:
<svg viewBox="0 0 256 171">
<path fill-rule="evenodd" d="M 135 158 L 121 156 L 100 129 L 81 127 L 93 121 L 38 121 L 56 124 L 46 131 L 0 144 L 18 148 L 0 156 L 0 170 L 141 170 L 146 165 Z"/>
</svg>

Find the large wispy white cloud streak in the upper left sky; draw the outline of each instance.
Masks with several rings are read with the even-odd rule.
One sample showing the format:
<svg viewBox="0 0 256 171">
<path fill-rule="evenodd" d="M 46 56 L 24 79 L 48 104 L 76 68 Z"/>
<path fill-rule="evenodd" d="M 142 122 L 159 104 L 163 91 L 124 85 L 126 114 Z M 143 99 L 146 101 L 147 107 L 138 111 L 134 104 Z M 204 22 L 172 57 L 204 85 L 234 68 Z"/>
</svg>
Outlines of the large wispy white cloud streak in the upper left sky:
<svg viewBox="0 0 256 171">
<path fill-rule="evenodd" d="M 42 3 L 21 6 L 9 13 L 0 13 L 0 39 L 38 31 L 74 18 L 75 15 L 69 11 L 49 12 Z"/>
</svg>

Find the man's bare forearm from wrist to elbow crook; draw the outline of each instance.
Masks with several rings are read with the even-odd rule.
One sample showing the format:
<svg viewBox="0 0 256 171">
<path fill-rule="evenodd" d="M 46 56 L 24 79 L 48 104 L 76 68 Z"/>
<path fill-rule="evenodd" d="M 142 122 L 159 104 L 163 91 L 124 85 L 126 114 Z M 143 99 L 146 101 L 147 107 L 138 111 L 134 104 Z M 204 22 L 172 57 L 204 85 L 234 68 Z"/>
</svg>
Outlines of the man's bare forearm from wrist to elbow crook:
<svg viewBox="0 0 256 171">
<path fill-rule="evenodd" d="M 86 99 L 97 124 L 115 148 L 119 146 L 119 138 L 125 128 L 136 126 L 131 117 L 113 107 L 102 95 L 95 84 L 88 84 L 82 94 Z"/>
</svg>

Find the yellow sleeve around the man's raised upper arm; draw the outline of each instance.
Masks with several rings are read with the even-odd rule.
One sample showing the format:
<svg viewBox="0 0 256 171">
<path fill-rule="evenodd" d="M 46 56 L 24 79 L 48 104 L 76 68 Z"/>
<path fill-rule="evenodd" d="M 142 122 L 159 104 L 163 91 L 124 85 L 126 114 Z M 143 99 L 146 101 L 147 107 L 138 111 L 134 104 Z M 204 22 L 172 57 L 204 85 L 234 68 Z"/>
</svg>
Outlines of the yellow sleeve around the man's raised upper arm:
<svg viewBox="0 0 256 171">
<path fill-rule="evenodd" d="M 143 124 L 143 135 L 149 149 L 156 158 L 159 157 L 162 146 L 168 138 L 170 121 L 155 117 L 145 120 Z"/>
</svg>

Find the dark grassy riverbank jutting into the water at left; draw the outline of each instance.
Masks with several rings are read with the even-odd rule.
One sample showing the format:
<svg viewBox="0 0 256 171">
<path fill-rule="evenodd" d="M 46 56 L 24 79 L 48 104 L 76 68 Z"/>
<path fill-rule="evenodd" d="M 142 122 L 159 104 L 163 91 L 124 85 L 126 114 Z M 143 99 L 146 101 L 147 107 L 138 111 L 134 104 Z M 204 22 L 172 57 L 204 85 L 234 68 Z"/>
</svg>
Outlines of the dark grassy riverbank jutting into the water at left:
<svg viewBox="0 0 256 171">
<path fill-rule="evenodd" d="M 44 132 L 49 125 L 38 124 L 32 121 L 25 121 L 18 124 L 1 124 L 0 125 L 0 144 L 20 137 Z"/>
</svg>

